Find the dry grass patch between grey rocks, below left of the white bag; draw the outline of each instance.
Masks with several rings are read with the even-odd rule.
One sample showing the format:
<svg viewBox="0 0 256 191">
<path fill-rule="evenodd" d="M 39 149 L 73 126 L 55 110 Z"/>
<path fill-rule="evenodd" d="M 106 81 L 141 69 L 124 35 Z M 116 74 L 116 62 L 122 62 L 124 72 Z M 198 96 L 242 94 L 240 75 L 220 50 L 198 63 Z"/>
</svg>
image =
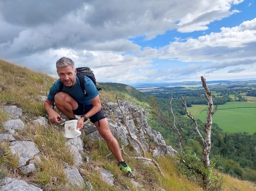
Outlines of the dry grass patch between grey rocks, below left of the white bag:
<svg viewBox="0 0 256 191">
<path fill-rule="evenodd" d="M 23 133 L 33 141 L 40 150 L 40 159 L 37 160 L 38 170 L 33 182 L 44 188 L 64 188 L 68 183 L 64 173 L 64 162 L 74 165 L 74 156 L 66 146 L 66 138 L 62 135 L 62 128 L 49 125 L 29 124 Z M 56 188 L 57 186 L 57 188 Z M 60 189 L 60 190 L 61 190 Z"/>
</svg>

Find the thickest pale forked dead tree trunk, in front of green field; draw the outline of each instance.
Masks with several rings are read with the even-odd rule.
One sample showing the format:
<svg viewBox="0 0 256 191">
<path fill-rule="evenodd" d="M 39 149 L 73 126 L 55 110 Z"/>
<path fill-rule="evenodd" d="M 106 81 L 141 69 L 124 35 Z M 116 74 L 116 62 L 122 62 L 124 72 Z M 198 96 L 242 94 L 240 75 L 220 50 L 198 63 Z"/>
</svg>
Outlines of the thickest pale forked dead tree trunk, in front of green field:
<svg viewBox="0 0 256 191">
<path fill-rule="evenodd" d="M 201 133 L 198 130 L 198 124 L 196 123 L 194 116 L 192 116 L 191 113 L 188 112 L 187 104 L 186 104 L 186 101 L 183 99 L 183 97 L 182 97 L 182 104 L 184 105 L 184 108 L 186 109 L 187 116 L 190 117 L 190 119 L 192 121 L 194 121 L 194 130 L 196 131 L 200 140 L 202 140 L 202 142 L 204 144 L 202 161 L 203 161 L 204 167 L 208 168 L 208 167 L 210 167 L 209 155 L 210 155 L 210 151 L 211 151 L 212 115 L 214 115 L 214 113 L 217 111 L 218 106 L 216 105 L 216 107 L 214 109 L 211 91 L 208 89 L 207 84 L 206 84 L 206 79 L 204 79 L 203 76 L 201 76 L 201 81 L 202 81 L 202 86 L 204 87 L 204 90 L 206 91 L 206 92 L 204 92 L 204 96 L 206 97 L 207 102 L 208 102 L 208 111 L 207 111 L 206 124 L 205 124 L 205 129 L 204 129 L 205 130 L 205 139 L 203 138 L 203 136 L 201 135 Z"/>
</svg>

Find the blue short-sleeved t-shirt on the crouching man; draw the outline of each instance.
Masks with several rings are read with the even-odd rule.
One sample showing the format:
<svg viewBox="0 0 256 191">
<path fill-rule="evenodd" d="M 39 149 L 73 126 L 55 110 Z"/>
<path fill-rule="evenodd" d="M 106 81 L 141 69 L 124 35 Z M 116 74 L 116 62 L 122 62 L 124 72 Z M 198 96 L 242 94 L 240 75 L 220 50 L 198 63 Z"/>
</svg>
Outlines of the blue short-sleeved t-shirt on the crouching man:
<svg viewBox="0 0 256 191">
<path fill-rule="evenodd" d="M 62 83 L 61 80 L 58 79 L 50 88 L 50 92 L 48 95 L 49 101 L 54 101 L 54 96 L 59 92 L 61 83 Z M 88 96 L 85 96 L 84 93 L 82 92 L 84 90 L 81 90 L 79 79 L 76 76 L 76 84 L 74 84 L 74 86 L 70 89 L 64 86 L 62 92 L 68 93 L 78 103 L 82 105 L 92 105 L 92 101 L 90 101 L 90 99 L 93 99 L 94 97 L 99 95 L 99 92 L 96 86 L 94 85 L 94 83 L 92 82 L 92 80 L 87 76 L 84 77 L 84 88 Z"/>
</svg>

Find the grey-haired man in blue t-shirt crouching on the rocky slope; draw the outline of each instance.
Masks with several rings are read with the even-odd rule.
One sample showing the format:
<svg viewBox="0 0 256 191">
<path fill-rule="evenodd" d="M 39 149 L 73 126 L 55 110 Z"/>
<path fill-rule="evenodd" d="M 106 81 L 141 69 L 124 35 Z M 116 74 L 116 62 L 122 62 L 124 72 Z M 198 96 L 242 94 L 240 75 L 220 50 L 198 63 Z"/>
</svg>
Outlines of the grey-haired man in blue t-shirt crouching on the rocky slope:
<svg viewBox="0 0 256 191">
<path fill-rule="evenodd" d="M 98 129 L 101 137 L 107 142 L 109 150 L 119 162 L 120 169 L 131 173 L 132 170 L 125 164 L 121 156 L 119 144 L 109 129 L 107 118 L 101 108 L 99 92 L 92 80 L 86 76 L 84 77 L 85 91 L 88 94 L 88 96 L 85 96 L 81 90 L 79 79 L 76 76 L 76 68 L 72 59 L 60 58 L 56 62 L 56 68 L 60 79 L 50 88 L 48 99 L 44 103 L 48 119 L 54 123 L 60 123 L 63 120 L 60 114 L 54 111 L 54 103 L 57 109 L 64 113 L 69 120 L 76 119 L 75 115 L 81 115 L 77 122 L 77 129 L 79 130 L 84 127 L 84 122 L 89 118 Z M 61 83 L 64 84 L 62 91 L 60 91 Z"/>
</svg>

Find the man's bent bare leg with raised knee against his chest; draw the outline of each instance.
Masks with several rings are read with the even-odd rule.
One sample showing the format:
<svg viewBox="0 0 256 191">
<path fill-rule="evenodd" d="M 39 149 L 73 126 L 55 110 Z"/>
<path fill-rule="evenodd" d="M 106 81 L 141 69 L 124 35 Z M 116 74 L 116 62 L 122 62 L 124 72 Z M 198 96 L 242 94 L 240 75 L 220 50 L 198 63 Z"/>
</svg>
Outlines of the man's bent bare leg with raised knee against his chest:
<svg viewBox="0 0 256 191">
<path fill-rule="evenodd" d="M 78 107 L 77 101 L 65 92 L 58 92 L 54 96 L 54 101 L 57 109 L 66 115 L 69 119 L 75 118 L 73 110 Z"/>
</svg>

